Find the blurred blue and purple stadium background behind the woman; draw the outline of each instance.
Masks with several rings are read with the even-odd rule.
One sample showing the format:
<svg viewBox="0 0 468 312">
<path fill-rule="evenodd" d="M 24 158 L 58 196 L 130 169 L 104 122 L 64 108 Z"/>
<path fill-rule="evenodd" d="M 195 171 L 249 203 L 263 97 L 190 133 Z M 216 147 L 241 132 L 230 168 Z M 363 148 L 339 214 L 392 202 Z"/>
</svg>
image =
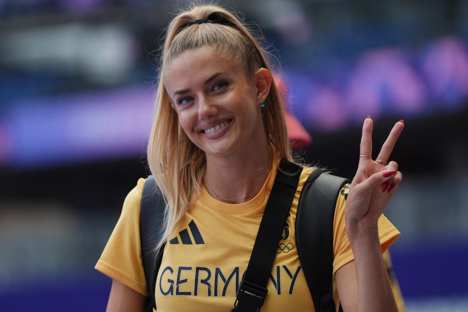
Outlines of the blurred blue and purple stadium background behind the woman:
<svg viewBox="0 0 468 312">
<path fill-rule="evenodd" d="M 1 311 L 104 311 L 93 267 L 147 175 L 158 39 L 186 2 L 0 0 Z M 276 49 L 309 162 L 352 178 L 362 120 L 376 145 L 405 120 L 394 270 L 409 312 L 468 311 L 468 1 L 219 2 Z"/>
</svg>

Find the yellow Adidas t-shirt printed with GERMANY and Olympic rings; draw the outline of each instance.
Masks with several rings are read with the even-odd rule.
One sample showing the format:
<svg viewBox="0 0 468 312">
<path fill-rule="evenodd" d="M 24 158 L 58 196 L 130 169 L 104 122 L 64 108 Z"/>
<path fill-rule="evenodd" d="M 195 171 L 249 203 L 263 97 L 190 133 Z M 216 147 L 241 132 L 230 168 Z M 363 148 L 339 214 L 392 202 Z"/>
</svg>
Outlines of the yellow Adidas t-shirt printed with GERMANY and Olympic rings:
<svg viewBox="0 0 468 312">
<path fill-rule="evenodd" d="M 254 246 L 255 236 L 273 187 L 277 162 L 262 188 L 243 204 L 220 202 L 202 189 L 193 207 L 169 237 L 156 279 L 158 312 L 229 311 L 235 291 Z M 262 311 L 314 311 L 295 244 L 297 202 L 311 170 L 302 172 L 290 214 L 285 223 Z M 140 198 L 144 179 L 139 179 L 124 202 L 117 226 L 96 269 L 147 295 L 139 241 Z M 337 200 L 333 222 L 333 274 L 353 260 L 344 223 L 345 187 Z M 385 216 L 379 219 L 379 235 L 385 250 L 399 235 Z M 334 283 L 335 302 L 337 302 Z"/>
</svg>

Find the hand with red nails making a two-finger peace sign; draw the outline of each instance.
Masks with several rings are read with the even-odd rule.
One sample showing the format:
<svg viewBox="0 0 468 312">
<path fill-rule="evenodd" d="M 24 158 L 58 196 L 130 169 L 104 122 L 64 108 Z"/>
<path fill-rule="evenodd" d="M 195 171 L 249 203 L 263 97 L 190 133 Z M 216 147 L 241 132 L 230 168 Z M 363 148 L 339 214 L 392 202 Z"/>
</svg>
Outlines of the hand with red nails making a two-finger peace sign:
<svg viewBox="0 0 468 312">
<path fill-rule="evenodd" d="M 398 164 L 395 161 L 389 162 L 396 140 L 403 131 L 403 120 L 393 126 L 375 160 L 372 160 L 371 156 L 372 127 L 373 121 L 367 117 L 362 127 L 359 166 L 351 182 L 345 209 L 346 223 L 351 227 L 351 229 L 347 227 L 348 235 L 351 234 L 350 230 L 357 230 L 354 226 L 360 229 L 377 228 L 378 218 L 395 194 L 403 177 L 398 171 Z"/>
</svg>

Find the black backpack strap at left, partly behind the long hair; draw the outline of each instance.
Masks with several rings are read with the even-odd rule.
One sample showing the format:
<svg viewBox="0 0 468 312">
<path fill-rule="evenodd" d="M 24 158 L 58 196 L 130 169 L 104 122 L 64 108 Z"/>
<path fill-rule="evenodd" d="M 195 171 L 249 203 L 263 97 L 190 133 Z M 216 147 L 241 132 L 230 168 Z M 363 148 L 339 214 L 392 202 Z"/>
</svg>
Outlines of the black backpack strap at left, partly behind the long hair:
<svg viewBox="0 0 468 312">
<path fill-rule="evenodd" d="M 143 186 L 140 208 L 140 243 L 143 269 L 145 271 L 148 288 L 148 300 L 146 310 L 156 310 L 156 276 L 161 265 L 162 246 L 157 252 L 154 250 L 156 242 L 164 233 L 164 209 L 165 202 L 161 192 L 157 188 L 154 176 L 148 176 Z"/>
</svg>

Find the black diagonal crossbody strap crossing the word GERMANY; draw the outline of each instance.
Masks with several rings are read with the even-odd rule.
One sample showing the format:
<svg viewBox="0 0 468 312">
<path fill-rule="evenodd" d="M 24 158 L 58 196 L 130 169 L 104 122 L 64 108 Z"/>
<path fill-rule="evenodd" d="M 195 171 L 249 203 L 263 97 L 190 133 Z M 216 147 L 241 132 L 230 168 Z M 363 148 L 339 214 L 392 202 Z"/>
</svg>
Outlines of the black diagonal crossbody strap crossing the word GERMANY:
<svg viewBox="0 0 468 312">
<path fill-rule="evenodd" d="M 265 301 L 278 243 L 302 172 L 302 167 L 287 160 L 282 160 L 279 168 L 231 312 L 258 312 Z"/>
</svg>

